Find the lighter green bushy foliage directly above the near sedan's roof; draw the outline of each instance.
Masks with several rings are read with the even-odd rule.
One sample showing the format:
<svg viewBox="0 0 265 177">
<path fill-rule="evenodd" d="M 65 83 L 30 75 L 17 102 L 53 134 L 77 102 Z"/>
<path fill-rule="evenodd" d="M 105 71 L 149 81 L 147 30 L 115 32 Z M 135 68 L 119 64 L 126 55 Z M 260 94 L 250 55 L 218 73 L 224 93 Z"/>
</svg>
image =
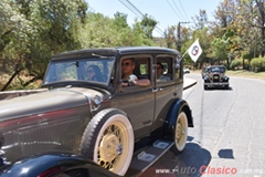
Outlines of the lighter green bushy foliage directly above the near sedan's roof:
<svg viewBox="0 0 265 177">
<path fill-rule="evenodd" d="M 116 13 L 115 19 L 109 19 L 100 13 L 88 13 L 85 24 L 80 25 L 75 40 L 81 48 L 110 48 L 129 45 L 153 45 L 147 38 L 140 22 L 130 28 L 126 15 Z"/>
</svg>

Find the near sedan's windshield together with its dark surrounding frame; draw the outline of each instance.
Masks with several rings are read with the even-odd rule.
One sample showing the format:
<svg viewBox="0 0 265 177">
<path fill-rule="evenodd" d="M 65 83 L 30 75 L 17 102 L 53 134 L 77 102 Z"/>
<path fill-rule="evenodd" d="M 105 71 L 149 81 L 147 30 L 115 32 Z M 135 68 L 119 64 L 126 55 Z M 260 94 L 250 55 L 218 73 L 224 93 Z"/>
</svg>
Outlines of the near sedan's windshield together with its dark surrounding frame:
<svg viewBox="0 0 265 177">
<path fill-rule="evenodd" d="M 103 81 L 92 81 L 87 79 L 87 67 L 89 65 L 98 65 L 104 76 Z M 52 60 L 44 75 L 42 87 L 64 87 L 68 85 L 106 87 L 112 81 L 114 65 L 115 56 Z M 65 76 L 65 79 L 60 79 L 60 76 Z"/>
</svg>

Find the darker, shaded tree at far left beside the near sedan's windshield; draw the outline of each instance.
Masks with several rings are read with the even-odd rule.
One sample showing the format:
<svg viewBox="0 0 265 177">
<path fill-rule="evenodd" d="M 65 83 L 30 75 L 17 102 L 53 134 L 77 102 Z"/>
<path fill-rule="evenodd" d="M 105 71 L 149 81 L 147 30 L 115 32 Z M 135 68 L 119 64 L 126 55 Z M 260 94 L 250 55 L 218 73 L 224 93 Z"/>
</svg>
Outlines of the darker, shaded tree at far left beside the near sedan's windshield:
<svg viewBox="0 0 265 177">
<path fill-rule="evenodd" d="M 14 0 L 0 2 L 1 60 L 8 63 L 11 77 L 1 90 L 7 90 L 20 73 L 32 80 L 21 80 L 26 86 L 42 79 L 51 55 L 80 46 L 73 38 L 75 21 L 84 21 L 87 4 L 83 0 Z M 10 20 L 9 20 L 10 19 Z"/>
</svg>

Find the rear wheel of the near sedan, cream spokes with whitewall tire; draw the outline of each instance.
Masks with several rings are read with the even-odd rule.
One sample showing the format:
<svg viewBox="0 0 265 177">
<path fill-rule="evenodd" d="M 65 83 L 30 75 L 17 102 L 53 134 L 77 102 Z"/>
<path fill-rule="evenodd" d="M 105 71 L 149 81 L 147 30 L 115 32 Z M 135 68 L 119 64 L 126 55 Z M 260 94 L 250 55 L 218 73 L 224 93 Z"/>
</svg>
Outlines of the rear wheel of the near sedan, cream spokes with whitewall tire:
<svg viewBox="0 0 265 177">
<path fill-rule="evenodd" d="M 180 153 L 184 149 L 188 138 L 188 117 L 184 112 L 180 112 L 176 121 L 174 128 L 174 150 Z"/>
</svg>

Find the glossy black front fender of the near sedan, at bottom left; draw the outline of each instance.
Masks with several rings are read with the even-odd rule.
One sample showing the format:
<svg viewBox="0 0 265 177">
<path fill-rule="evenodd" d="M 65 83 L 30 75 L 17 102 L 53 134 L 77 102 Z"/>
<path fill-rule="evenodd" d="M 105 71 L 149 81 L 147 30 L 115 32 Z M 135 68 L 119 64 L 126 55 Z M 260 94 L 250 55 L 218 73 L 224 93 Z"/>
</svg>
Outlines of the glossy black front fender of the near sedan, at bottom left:
<svg viewBox="0 0 265 177">
<path fill-rule="evenodd" d="M 0 168 L 0 177 L 45 177 L 78 167 L 99 168 L 93 160 L 85 159 L 81 155 L 68 152 L 53 152 L 29 156 L 15 160 L 11 165 L 4 165 Z M 99 170 L 107 169 L 102 168 Z"/>
</svg>

